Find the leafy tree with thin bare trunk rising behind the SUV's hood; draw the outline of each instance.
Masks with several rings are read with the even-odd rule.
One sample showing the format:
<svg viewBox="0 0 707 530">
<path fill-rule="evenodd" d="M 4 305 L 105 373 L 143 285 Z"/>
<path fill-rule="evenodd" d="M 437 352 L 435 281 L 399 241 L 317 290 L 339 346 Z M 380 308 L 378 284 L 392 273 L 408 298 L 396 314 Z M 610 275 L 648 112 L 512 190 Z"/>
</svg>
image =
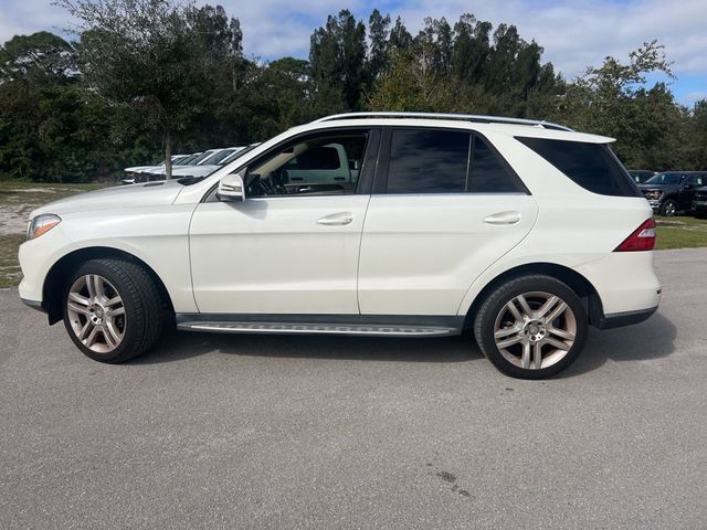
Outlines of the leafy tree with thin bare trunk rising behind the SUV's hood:
<svg viewBox="0 0 707 530">
<path fill-rule="evenodd" d="M 172 0 L 59 0 L 81 22 L 83 78 L 106 102 L 139 109 L 160 130 L 171 177 L 173 136 L 208 109 L 214 68 L 240 34 L 221 8 Z"/>
</svg>

